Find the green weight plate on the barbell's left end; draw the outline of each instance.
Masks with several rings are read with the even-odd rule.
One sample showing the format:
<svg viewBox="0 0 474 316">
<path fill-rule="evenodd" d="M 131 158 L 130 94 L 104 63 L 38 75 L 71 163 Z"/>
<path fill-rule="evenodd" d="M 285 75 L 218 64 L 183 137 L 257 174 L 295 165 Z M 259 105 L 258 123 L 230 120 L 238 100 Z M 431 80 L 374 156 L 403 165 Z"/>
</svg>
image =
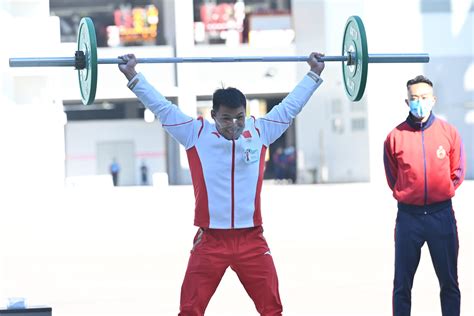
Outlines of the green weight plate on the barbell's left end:
<svg viewBox="0 0 474 316">
<path fill-rule="evenodd" d="M 77 50 L 83 51 L 86 57 L 86 67 L 79 69 L 79 88 L 84 105 L 94 102 L 97 89 L 97 39 L 94 23 L 91 18 L 81 19 L 77 30 Z"/>
</svg>

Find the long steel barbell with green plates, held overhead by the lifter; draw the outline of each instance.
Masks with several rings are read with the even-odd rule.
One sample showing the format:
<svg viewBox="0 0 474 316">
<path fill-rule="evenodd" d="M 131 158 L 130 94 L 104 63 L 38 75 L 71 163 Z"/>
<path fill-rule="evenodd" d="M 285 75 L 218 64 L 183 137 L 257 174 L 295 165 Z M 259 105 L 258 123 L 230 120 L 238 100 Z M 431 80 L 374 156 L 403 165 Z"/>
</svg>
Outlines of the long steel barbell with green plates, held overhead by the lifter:
<svg viewBox="0 0 474 316">
<path fill-rule="evenodd" d="M 97 89 L 97 65 L 121 64 L 120 58 L 98 58 L 94 23 L 84 17 L 77 32 L 77 51 L 74 57 L 10 58 L 10 67 L 74 67 L 78 72 L 81 99 L 92 104 Z M 344 28 L 341 56 L 324 56 L 324 62 L 342 62 L 344 89 L 352 101 L 364 95 L 369 63 L 427 63 L 428 54 L 370 54 L 362 19 L 351 16 Z M 241 56 L 241 57 L 169 57 L 138 58 L 138 63 L 221 63 L 221 62 L 306 62 L 308 56 Z"/>
</svg>

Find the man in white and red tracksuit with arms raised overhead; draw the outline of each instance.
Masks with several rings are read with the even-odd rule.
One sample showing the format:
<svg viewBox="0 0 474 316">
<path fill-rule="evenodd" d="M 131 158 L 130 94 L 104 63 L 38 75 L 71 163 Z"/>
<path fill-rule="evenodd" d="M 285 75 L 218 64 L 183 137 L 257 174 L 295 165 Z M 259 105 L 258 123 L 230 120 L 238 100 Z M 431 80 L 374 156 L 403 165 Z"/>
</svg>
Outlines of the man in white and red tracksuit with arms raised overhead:
<svg viewBox="0 0 474 316">
<path fill-rule="evenodd" d="M 119 68 L 128 87 L 188 156 L 196 199 L 194 225 L 199 229 L 181 288 L 179 315 L 204 315 L 228 267 L 237 273 L 260 315 L 281 315 L 278 278 L 263 237 L 260 210 L 265 153 L 322 83 L 321 56 L 309 56 L 308 74 L 259 119 L 246 118 L 246 98 L 238 89 L 216 90 L 214 122 L 185 115 L 137 74 L 133 54 L 120 57 L 126 62 Z"/>
</svg>

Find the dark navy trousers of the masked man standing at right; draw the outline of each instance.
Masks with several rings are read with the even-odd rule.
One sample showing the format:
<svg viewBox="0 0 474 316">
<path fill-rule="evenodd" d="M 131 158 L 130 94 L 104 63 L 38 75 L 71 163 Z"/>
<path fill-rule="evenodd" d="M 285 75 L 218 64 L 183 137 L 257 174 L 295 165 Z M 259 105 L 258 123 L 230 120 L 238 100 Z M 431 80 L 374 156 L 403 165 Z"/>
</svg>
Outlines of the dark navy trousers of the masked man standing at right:
<svg viewBox="0 0 474 316">
<path fill-rule="evenodd" d="M 429 207 L 407 210 L 399 205 L 395 227 L 393 315 L 410 315 L 413 278 L 425 242 L 439 280 L 442 315 L 459 316 L 459 240 L 450 201 L 435 210 Z"/>
</svg>

